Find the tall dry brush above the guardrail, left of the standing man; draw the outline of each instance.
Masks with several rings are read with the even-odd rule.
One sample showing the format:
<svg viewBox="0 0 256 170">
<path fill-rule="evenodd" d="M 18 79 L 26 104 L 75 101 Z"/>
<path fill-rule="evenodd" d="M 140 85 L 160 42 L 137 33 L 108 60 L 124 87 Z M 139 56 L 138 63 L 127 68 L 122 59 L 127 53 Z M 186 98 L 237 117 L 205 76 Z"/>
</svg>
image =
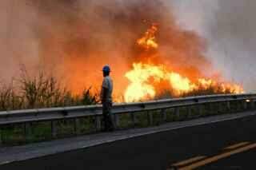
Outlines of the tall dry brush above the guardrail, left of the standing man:
<svg viewBox="0 0 256 170">
<path fill-rule="evenodd" d="M 23 71 L 19 80 L 12 81 L 10 85 L 0 86 L 0 110 L 2 111 L 94 105 L 96 103 L 98 103 L 98 97 L 90 93 L 90 89 L 85 89 L 81 95 L 73 95 L 62 87 L 55 77 L 46 76 L 45 73 L 29 77 Z"/>
</svg>

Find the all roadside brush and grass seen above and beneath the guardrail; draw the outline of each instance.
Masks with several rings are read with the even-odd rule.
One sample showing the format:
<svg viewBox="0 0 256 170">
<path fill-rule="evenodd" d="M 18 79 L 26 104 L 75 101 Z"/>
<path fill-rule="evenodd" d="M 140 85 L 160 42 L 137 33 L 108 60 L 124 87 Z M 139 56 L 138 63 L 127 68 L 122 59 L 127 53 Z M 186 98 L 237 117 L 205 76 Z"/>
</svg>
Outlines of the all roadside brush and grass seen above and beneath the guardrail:
<svg viewBox="0 0 256 170">
<path fill-rule="evenodd" d="M 213 87 L 186 93 L 182 97 L 216 93 L 223 92 Z M 174 97 L 174 95 L 171 95 L 170 90 L 163 91 L 158 95 L 158 99 L 170 97 Z M 26 72 L 22 72 L 19 80 L 13 81 L 10 85 L 0 85 L 0 110 L 94 105 L 97 103 L 98 96 L 92 95 L 90 89 L 85 89 L 80 95 L 74 96 L 69 90 L 60 85 L 55 77 L 46 76 L 45 73 L 30 77 Z M 193 117 L 206 117 L 213 114 L 230 113 L 231 111 L 238 112 L 238 110 L 242 110 L 242 103 L 231 102 L 230 110 L 226 109 L 225 103 L 220 106 L 218 104 L 205 104 L 201 105 L 201 107 L 201 113 L 198 112 L 196 106 L 190 106 L 190 112 L 188 107 L 181 107 L 179 114 L 176 113 L 174 108 L 166 109 L 166 122 L 185 121 Z M 0 137 L 2 144 L 13 145 L 97 132 L 99 129 L 96 128 L 97 120 L 95 118 L 84 117 L 79 120 L 70 119 L 3 125 L 0 127 Z M 133 119 L 136 120 L 135 123 L 132 121 Z M 78 127 L 75 126 L 76 121 L 79 122 Z M 55 137 L 51 133 L 51 123 L 53 122 L 57 129 L 57 136 Z M 160 124 L 162 124 L 162 113 L 159 110 L 136 113 L 134 115 L 126 113 L 119 116 L 119 128 L 142 128 Z"/>
</svg>

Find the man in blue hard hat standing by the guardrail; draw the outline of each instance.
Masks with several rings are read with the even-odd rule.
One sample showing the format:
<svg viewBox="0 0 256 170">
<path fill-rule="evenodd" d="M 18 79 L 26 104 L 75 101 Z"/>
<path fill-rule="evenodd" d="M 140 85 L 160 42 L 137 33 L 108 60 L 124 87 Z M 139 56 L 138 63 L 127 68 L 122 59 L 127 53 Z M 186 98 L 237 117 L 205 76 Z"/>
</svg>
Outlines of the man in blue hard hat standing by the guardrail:
<svg viewBox="0 0 256 170">
<path fill-rule="evenodd" d="M 111 115 L 113 81 L 110 77 L 110 66 L 105 65 L 102 71 L 103 71 L 104 78 L 102 81 L 101 101 L 102 101 L 104 130 L 113 131 L 114 123 Z"/>
</svg>

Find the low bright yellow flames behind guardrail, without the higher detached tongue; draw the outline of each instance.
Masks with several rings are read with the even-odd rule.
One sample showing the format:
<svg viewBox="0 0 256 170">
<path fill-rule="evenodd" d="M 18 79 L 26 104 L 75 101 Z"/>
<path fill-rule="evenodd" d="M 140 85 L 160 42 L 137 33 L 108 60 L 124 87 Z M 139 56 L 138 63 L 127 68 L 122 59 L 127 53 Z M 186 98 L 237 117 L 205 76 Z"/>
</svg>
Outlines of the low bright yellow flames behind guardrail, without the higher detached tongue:
<svg viewBox="0 0 256 170">
<path fill-rule="evenodd" d="M 130 81 L 125 93 L 126 102 L 142 101 L 156 97 L 156 89 L 158 89 L 156 84 L 161 81 L 168 81 L 169 89 L 172 89 L 176 96 L 210 87 L 218 89 L 222 93 L 226 91 L 243 93 L 240 85 L 218 83 L 205 78 L 199 78 L 198 81 L 192 82 L 188 77 L 182 77 L 179 73 L 167 71 L 162 65 L 134 63 L 133 69 L 126 73 L 126 77 Z"/>
</svg>

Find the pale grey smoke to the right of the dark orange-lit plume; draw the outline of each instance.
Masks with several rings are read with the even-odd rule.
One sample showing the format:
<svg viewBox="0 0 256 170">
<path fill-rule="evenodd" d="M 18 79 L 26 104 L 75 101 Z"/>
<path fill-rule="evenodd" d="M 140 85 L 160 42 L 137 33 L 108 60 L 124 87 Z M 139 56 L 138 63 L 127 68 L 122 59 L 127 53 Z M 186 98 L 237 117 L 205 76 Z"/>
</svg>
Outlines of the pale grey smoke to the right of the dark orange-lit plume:
<svg viewBox="0 0 256 170">
<path fill-rule="evenodd" d="M 253 91 L 256 83 L 253 0 L 174 1 L 180 26 L 206 38 L 206 56 L 224 76 Z"/>
</svg>

